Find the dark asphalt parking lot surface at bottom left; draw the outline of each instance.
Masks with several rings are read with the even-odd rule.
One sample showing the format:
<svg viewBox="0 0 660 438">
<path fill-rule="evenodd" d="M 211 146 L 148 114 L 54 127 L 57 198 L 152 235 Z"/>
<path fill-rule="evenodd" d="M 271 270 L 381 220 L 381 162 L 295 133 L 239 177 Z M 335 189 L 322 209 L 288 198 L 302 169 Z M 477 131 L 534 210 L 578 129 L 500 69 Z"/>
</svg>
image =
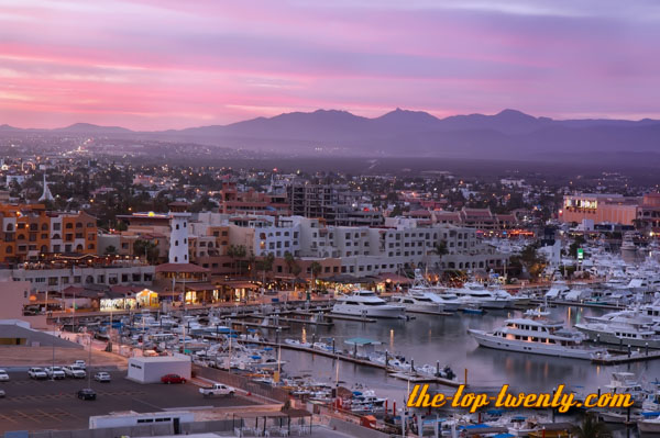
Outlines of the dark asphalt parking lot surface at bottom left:
<svg viewBox="0 0 660 438">
<path fill-rule="evenodd" d="M 95 370 L 91 370 L 94 373 Z M 76 393 L 88 388 L 87 379 L 42 380 L 28 372 L 9 372 L 0 382 L 6 397 L 0 398 L 0 433 L 7 430 L 48 430 L 88 428 L 89 417 L 111 412 L 157 412 L 168 408 L 231 407 L 256 404 L 250 397 L 205 398 L 199 386 L 186 384 L 139 384 L 125 379 L 125 371 L 110 371 L 110 383 L 95 382 L 96 401 L 78 400 Z"/>
</svg>

